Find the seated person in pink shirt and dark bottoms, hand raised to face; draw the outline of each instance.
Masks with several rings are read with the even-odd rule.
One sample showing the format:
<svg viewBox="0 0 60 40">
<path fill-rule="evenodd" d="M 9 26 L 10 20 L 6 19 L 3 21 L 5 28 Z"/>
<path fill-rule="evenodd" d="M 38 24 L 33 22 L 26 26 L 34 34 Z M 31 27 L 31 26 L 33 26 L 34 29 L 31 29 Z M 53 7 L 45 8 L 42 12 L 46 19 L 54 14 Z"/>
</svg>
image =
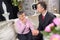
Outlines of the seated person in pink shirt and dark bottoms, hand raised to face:
<svg viewBox="0 0 60 40">
<path fill-rule="evenodd" d="M 32 34 L 37 35 L 38 30 L 34 30 L 32 23 L 26 18 L 23 11 L 19 11 L 18 20 L 15 22 L 17 29 L 17 37 L 19 40 L 33 40 Z"/>
</svg>

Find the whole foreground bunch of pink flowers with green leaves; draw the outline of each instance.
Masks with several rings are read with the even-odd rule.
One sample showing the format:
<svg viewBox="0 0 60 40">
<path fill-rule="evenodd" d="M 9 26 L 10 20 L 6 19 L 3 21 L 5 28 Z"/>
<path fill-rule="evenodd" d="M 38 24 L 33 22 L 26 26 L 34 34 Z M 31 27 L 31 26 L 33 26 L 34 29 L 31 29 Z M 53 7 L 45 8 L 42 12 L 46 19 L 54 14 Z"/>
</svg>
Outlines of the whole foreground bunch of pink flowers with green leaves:
<svg viewBox="0 0 60 40">
<path fill-rule="evenodd" d="M 57 27 L 54 27 L 55 25 Z M 53 22 L 46 26 L 42 33 L 48 37 L 48 40 L 60 40 L 60 18 L 53 19 Z"/>
</svg>

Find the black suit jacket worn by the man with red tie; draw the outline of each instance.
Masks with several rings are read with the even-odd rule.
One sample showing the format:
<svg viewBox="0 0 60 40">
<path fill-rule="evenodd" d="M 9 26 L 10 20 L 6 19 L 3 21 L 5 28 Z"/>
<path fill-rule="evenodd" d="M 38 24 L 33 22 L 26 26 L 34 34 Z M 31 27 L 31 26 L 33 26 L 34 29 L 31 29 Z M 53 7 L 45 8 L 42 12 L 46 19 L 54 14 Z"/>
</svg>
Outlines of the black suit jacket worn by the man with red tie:
<svg viewBox="0 0 60 40">
<path fill-rule="evenodd" d="M 39 15 L 39 27 L 38 27 L 38 30 L 43 31 L 47 25 L 49 25 L 50 23 L 53 22 L 53 19 L 55 17 L 56 16 L 53 15 L 52 13 L 47 12 L 46 15 L 45 15 L 44 21 L 43 21 L 42 20 L 42 14 Z"/>
</svg>

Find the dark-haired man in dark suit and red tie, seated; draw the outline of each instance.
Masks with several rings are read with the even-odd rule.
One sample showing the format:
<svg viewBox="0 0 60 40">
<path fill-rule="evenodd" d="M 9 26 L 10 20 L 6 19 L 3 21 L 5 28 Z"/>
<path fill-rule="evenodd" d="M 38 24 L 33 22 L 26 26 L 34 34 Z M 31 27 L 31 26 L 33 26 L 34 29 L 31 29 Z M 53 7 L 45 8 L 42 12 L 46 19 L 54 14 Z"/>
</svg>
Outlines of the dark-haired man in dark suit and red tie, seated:
<svg viewBox="0 0 60 40">
<path fill-rule="evenodd" d="M 56 17 L 52 13 L 47 11 L 47 5 L 45 2 L 38 2 L 36 4 L 37 6 L 37 11 L 41 13 L 39 15 L 39 31 L 43 31 L 47 25 L 52 23 L 53 19 Z M 41 33 L 38 33 L 34 40 L 43 40 L 43 35 Z"/>
</svg>

